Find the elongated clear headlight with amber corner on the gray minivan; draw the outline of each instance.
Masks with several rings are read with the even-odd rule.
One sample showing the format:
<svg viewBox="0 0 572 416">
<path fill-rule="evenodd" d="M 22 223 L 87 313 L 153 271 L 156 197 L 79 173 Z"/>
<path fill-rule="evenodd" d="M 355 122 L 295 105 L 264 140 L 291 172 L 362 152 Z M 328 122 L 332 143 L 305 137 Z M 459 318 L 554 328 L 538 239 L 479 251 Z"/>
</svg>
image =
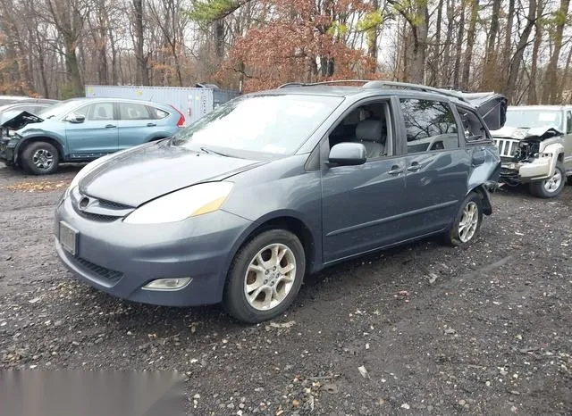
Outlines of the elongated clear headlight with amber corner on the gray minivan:
<svg viewBox="0 0 572 416">
<path fill-rule="evenodd" d="M 176 222 L 218 210 L 231 193 L 231 182 L 207 182 L 161 196 L 131 212 L 125 222 L 160 224 Z"/>
</svg>

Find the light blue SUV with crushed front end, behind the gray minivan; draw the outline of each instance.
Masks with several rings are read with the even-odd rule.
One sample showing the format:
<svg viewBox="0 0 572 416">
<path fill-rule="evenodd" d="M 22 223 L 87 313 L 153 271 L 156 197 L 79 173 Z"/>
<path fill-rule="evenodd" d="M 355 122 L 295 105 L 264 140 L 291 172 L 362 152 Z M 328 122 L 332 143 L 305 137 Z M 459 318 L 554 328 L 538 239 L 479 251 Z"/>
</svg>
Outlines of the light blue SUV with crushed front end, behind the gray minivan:
<svg viewBox="0 0 572 416">
<path fill-rule="evenodd" d="M 61 162 L 88 162 L 131 146 L 171 137 L 185 117 L 169 104 L 111 98 L 74 98 L 34 115 L 0 115 L 0 160 L 35 175 Z"/>
</svg>

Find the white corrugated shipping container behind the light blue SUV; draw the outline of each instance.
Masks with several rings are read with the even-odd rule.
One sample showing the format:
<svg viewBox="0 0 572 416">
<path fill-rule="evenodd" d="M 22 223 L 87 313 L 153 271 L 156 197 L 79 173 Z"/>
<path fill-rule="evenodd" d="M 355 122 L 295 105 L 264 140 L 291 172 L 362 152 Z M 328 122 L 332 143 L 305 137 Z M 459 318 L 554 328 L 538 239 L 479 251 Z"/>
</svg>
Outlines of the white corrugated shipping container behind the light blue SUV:
<svg viewBox="0 0 572 416">
<path fill-rule="evenodd" d="M 127 98 L 170 104 L 185 115 L 187 125 L 239 95 L 238 91 L 203 87 L 86 86 L 87 97 Z"/>
</svg>

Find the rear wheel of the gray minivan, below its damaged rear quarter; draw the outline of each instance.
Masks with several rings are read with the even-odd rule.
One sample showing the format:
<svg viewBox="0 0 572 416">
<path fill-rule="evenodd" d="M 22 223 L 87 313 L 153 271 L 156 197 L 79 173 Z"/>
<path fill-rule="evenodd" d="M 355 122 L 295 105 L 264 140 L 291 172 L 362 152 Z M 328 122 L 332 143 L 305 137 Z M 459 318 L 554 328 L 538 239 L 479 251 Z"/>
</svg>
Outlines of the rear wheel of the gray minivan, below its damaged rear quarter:
<svg viewBox="0 0 572 416">
<path fill-rule="evenodd" d="M 473 212 L 470 214 L 470 212 Z M 471 215 L 469 221 L 470 228 L 461 227 L 461 221 L 467 222 L 467 215 Z M 475 219 L 476 222 L 473 220 Z M 445 244 L 453 247 L 465 247 L 469 245 L 478 235 L 483 223 L 483 200 L 481 196 L 475 192 L 467 195 L 465 200 L 460 204 L 453 225 L 445 233 Z"/>
</svg>

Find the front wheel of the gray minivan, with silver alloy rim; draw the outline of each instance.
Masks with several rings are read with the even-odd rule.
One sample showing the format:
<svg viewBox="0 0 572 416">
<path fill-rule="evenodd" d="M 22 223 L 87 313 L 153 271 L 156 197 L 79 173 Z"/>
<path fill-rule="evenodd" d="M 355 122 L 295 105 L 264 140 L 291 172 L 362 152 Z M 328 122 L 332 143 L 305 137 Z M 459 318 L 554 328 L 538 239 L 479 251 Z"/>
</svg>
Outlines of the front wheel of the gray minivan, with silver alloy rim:
<svg viewBox="0 0 572 416">
<path fill-rule="evenodd" d="M 278 257 L 274 247 L 278 248 Z M 283 275 L 273 263 L 273 258 L 278 260 L 281 255 L 282 260 L 278 264 L 285 266 L 283 270 L 294 266 Z M 298 237 L 284 229 L 264 231 L 234 256 L 224 287 L 224 309 L 237 320 L 247 323 L 271 320 L 292 304 L 302 285 L 305 270 L 306 255 Z"/>
</svg>

